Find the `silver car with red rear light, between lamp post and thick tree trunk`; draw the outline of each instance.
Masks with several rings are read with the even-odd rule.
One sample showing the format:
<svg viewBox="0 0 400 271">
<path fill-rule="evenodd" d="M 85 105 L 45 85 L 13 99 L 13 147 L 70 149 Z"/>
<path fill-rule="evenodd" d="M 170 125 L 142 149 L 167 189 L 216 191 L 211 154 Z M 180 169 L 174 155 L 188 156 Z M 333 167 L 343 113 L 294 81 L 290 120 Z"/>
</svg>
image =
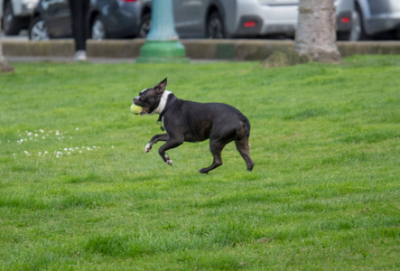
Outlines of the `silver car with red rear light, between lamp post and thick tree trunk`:
<svg viewBox="0 0 400 271">
<path fill-rule="evenodd" d="M 149 30 L 151 5 L 144 1 L 139 30 Z M 181 38 L 249 38 L 294 35 L 298 0 L 172 0 Z"/>
</svg>

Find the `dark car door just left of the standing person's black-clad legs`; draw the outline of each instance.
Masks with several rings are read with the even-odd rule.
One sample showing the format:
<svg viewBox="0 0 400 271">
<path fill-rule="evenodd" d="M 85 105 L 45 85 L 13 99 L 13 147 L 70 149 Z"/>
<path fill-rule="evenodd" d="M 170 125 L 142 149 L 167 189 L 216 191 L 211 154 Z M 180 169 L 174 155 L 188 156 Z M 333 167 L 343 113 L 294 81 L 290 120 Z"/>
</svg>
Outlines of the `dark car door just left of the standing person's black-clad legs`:
<svg viewBox="0 0 400 271">
<path fill-rule="evenodd" d="M 72 36 L 70 5 L 68 0 L 44 1 L 46 2 L 46 16 L 44 19 L 49 36 L 52 38 Z"/>
</svg>

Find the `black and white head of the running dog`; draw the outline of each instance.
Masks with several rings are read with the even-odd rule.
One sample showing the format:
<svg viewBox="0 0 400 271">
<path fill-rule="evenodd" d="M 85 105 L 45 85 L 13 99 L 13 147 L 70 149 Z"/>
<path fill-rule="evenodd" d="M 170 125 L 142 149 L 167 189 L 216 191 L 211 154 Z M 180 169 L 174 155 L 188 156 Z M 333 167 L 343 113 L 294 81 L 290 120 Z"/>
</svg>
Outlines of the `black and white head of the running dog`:
<svg viewBox="0 0 400 271">
<path fill-rule="evenodd" d="M 143 89 L 140 91 L 139 96 L 134 98 L 134 104 L 136 106 L 143 107 L 140 115 L 145 114 L 160 114 L 163 111 L 164 105 L 162 105 L 162 99 L 166 92 L 171 93 L 168 90 L 165 90 L 167 86 L 167 79 L 163 79 L 160 83 L 158 83 L 154 88 L 151 89 Z"/>
</svg>

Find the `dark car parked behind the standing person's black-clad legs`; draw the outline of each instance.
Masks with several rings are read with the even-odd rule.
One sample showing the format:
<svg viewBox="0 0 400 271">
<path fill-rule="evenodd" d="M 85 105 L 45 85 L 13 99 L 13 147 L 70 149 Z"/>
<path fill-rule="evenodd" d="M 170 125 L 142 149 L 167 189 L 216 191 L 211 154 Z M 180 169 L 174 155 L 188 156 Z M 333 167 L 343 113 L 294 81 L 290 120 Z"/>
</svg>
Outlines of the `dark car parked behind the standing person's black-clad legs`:
<svg viewBox="0 0 400 271">
<path fill-rule="evenodd" d="M 135 37 L 139 33 L 143 1 L 90 0 L 87 16 L 89 38 Z M 41 0 L 29 26 L 30 40 L 72 36 L 68 0 Z"/>
</svg>

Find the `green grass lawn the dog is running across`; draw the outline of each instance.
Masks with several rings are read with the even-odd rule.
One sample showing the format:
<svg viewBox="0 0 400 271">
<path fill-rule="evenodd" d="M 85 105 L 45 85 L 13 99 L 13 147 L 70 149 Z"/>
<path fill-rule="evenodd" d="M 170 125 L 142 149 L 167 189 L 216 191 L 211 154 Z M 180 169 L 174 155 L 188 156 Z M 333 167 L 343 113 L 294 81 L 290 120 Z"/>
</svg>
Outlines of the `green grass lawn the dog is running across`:
<svg viewBox="0 0 400 271">
<path fill-rule="evenodd" d="M 400 268 L 400 56 L 265 70 L 14 63 L 0 75 L 0 270 Z M 132 98 L 239 108 L 252 173 L 227 145 L 144 146 Z"/>
</svg>

